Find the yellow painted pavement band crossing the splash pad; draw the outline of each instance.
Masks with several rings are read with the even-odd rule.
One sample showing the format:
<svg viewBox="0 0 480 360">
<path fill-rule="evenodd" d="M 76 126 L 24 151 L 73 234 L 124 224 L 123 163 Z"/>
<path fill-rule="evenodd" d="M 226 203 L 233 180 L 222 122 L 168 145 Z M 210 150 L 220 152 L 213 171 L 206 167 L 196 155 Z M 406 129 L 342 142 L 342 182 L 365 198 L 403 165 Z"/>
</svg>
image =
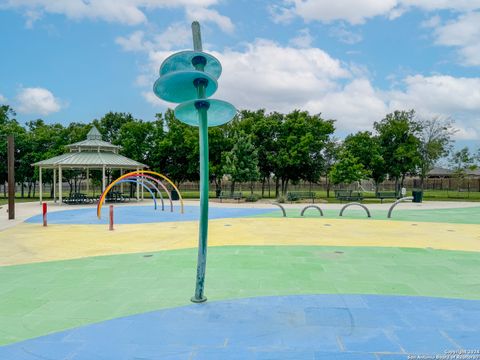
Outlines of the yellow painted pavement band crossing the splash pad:
<svg viewBox="0 0 480 360">
<path fill-rule="evenodd" d="M 50 225 L 0 232 L 0 266 L 197 246 L 198 223 Z M 380 246 L 480 251 L 480 225 L 350 219 L 210 221 L 209 246 Z"/>
</svg>

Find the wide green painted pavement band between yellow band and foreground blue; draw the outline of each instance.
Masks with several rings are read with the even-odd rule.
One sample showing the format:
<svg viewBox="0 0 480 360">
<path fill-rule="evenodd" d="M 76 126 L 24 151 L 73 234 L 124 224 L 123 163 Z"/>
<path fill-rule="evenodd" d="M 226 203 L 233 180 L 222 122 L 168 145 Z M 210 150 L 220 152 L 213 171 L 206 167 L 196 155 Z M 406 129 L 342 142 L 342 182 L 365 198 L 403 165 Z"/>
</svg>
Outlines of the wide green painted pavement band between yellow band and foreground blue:
<svg viewBox="0 0 480 360">
<path fill-rule="evenodd" d="M 196 249 L 0 267 L 0 345 L 190 304 Z M 210 301 L 290 294 L 480 299 L 477 253 L 408 248 L 212 247 Z"/>
</svg>

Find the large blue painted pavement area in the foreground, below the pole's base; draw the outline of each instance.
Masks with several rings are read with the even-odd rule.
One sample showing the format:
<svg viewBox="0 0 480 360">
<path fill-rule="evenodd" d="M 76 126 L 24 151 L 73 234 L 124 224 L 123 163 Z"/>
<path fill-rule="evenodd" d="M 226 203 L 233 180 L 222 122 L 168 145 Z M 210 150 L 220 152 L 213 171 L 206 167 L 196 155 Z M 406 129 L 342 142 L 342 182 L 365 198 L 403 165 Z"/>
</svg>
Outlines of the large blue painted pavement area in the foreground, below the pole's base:
<svg viewBox="0 0 480 360">
<path fill-rule="evenodd" d="M 299 295 L 195 304 L 0 347 L 0 359 L 396 360 L 480 348 L 480 301 Z"/>
</svg>

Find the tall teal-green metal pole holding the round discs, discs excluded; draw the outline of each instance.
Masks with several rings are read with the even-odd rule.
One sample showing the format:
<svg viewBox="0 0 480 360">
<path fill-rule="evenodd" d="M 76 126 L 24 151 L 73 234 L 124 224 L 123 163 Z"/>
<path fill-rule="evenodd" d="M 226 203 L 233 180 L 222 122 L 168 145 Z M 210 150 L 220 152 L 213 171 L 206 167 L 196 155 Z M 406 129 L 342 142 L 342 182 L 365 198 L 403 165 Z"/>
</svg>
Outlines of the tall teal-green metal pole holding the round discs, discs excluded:
<svg viewBox="0 0 480 360">
<path fill-rule="evenodd" d="M 196 51 L 202 50 L 202 39 L 200 36 L 200 24 L 196 21 L 192 23 L 193 48 Z M 192 59 L 192 64 L 196 70 L 203 71 L 206 59 L 203 56 L 197 56 Z M 201 303 L 207 301 L 203 294 L 205 286 L 205 269 L 207 266 L 207 241 L 208 241 L 208 121 L 207 111 L 209 103 L 202 101 L 205 99 L 205 87 L 208 85 L 203 79 L 195 81 L 197 95 L 200 100 L 195 103 L 198 111 L 199 120 L 199 140 L 200 140 L 200 227 L 198 231 L 198 260 L 197 260 L 197 281 L 195 286 L 195 295 L 192 302 Z"/>
</svg>

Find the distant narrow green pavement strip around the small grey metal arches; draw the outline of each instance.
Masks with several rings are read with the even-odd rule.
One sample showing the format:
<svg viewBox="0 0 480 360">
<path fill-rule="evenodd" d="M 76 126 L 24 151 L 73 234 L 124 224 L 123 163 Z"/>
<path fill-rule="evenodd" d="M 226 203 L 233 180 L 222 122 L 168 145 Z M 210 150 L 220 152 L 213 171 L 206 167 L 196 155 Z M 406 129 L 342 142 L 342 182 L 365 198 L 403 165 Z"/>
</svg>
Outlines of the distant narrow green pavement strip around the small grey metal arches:
<svg viewBox="0 0 480 360">
<path fill-rule="evenodd" d="M 326 218 L 345 218 L 345 219 L 368 219 L 365 210 L 358 207 L 349 207 L 343 212 L 343 216 L 339 217 L 340 210 L 323 209 L 322 204 L 317 204 L 323 211 Z M 307 206 L 307 204 L 305 204 Z M 366 205 L 368 207 L 368 204 Z M 458 209 L 435 209 L 435 210 L 402 210 L 402 204 L 392 212 L 392 218 L 388 219 L 388 210 L 370 210 L 372 219 L 375 220 L 398 220 L 413 222 L 443 222 L 449 224 L 480 224 L 480 207 L 458 208 Z M 286 209 L 287 216 L 291 218 L 300 218 L 302 209 Z M 305 216 L 308 218 L 319 217 L 320 213 L 317 209 L 308 209 Z M 252 217 L 282 217 L 280 209 Z"/>
</svg>

